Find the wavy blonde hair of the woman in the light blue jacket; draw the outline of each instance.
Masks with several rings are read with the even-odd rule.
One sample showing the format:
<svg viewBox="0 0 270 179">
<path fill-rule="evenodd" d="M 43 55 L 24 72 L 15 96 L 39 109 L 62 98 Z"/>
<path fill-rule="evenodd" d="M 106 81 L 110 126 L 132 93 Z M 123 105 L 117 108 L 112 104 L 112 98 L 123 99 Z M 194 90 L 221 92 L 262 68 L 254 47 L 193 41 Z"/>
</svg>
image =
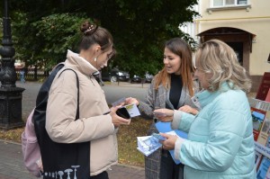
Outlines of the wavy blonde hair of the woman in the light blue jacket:
<svg viewBox="0 0 270 179">
<path fill-rule="evenodd" d="M 221 40 L 208 40 L 196 51 L 197 67 L 204 73 L 211 74 L 210 91 L 217 91 L 223 82 L 229 82 L 231 89 L 241 89 L 246 93 L 251 88 L 251 80 L 246 69 L 238 63 L 233 49 Z"/>
</svg>

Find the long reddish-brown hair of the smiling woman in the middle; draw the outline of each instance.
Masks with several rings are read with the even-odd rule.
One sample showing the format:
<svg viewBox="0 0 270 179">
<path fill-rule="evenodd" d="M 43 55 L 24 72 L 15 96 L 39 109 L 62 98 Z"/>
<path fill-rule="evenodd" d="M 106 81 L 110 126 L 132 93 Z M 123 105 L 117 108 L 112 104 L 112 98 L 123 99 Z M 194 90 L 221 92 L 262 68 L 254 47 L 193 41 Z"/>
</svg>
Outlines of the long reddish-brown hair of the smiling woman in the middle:
<svg viewBox="0 0 270 179">
<path fill-rule="evenodd" d="M 181 38 L 173 38 L 167 40 L 165 43 L 165 48 L 169 49 L 175 55 L 179 56 L 181 59 L 181 66 L 179 68 L 180 74 L 183 80 L 183 87 L 188 89 L 188 92 L 193 96 L 193 60 L 192 60 L 192 50 L 189 45 Z M 170 87 L 171 76 L 166 72 L 164 67 L 155 76 L 155 89 L 157 90 L 158 85 L 165 86 L 166 89 Z"/>
</svg>

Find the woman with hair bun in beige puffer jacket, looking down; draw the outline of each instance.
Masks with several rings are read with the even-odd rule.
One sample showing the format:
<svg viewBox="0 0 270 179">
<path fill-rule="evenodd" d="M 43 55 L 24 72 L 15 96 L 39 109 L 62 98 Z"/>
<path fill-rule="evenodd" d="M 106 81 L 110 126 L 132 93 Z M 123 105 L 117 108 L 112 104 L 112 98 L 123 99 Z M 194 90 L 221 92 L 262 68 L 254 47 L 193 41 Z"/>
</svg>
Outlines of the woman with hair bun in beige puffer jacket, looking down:
<svg viewBox="0 0 270 179">
<path fill-rule="evenodd" d="M 107 66 L 112 49 L 109 31 L 85 22 L 81 31 L 84 36 L 78 54 L 67 50 L 65 68 L 76 71 L 79 80 L 79 119 L 76 118 L 76 75 L 66 70 L 56 76 L 47 105 L 46 130 L 50 139 L 58 143 L 80 143 L 91 141 L 89 178 L 107 179 L 106 170 L 117 163 L 116 129 L 129 123 L 116 115 L 117 107 L 109 109 L 103 89 L 93 74 Z M 108 114 L 104 114 L 109 112 Z"/>
</svg>

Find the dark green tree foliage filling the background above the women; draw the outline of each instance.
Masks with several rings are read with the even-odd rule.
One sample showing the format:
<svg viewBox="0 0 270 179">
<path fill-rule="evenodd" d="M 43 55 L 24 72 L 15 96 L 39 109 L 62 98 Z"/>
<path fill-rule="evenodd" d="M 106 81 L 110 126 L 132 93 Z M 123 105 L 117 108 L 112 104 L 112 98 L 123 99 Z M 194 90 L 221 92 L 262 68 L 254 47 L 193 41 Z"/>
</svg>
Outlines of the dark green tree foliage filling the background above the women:
<svg viewBox="0 0 270 179">
<path fill-rule="evenodd" d="M 179 24 L 192 22 L 191 6 L 196 0 L 11 0 L 14 36 L 20 58 L 45 60 L 53 64 L 74 49 L 77 30 L 85 18 L 92 18 L 112 32 L 117 58 L 110 64 L 142 75 L 163 67 L 164 43 L 182 37 L 194 40 Z M 24 39 L 26 41 L 23 42 Z M 27 52 L 25 50 L 28 50 Z M 19 57 L 19 56 L 18 56 Z"/>
</svg>

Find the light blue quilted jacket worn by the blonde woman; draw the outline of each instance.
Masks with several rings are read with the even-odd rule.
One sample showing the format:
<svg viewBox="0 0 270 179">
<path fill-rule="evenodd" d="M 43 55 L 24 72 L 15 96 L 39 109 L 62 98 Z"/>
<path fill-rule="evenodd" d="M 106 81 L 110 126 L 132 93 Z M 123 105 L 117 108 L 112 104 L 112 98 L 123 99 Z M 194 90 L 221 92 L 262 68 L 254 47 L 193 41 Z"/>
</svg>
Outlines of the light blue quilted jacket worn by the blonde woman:
<svg viewBox="0 0 270 179">
<path fill-rule="evenodd" d="M 184 179 L 255 179 L 252 119 L 247 95 L 224 83 L 217 92 L 195 94 L 202 111 L 175 111 L 172 127 L 188 132 L 175 150 Z"/>
</svg>

